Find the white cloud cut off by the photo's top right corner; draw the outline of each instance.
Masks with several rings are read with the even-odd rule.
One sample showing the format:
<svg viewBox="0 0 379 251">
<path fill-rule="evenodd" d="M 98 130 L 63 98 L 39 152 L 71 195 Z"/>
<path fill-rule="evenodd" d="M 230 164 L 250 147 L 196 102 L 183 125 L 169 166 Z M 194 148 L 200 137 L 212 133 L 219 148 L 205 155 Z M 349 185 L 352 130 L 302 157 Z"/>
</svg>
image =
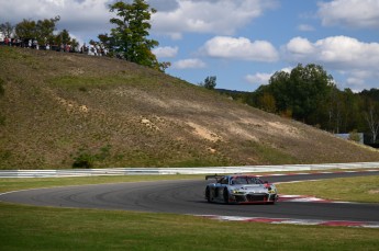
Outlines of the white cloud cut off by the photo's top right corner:
<svg viewBox="0 0 379 251">
<path fill-rule="evenodd" d="M 333 0 L 319 3 L 319 16 L 325 26 L 379 28 L 378 0 Z"/>
</svg>

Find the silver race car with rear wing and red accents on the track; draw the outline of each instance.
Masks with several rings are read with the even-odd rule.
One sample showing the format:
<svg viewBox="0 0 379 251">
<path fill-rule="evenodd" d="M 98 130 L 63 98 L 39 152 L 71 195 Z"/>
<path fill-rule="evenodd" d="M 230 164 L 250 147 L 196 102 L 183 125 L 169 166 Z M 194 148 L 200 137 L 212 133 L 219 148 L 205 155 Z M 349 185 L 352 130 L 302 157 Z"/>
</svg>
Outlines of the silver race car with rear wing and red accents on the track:
<svg viewBox="0 0 379 251">
<path fill-rule="evenodd" d="M 215 179 L 215 183 L 205 187 L 208 202 L 226 204 L 275 204 L 278 192 L 274 184 L 249 174 L 207 175 L 205 180 Z"/>
</svg>

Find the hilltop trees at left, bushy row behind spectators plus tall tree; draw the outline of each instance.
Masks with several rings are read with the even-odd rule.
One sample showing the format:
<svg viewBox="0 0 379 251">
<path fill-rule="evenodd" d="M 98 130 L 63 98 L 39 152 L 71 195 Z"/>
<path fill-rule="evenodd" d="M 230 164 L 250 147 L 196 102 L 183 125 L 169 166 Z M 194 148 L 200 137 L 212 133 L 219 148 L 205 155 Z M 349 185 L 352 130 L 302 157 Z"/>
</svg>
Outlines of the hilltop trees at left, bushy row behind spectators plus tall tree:
<svg viewBox="0 0 379 251">
<path fill-rule="evenodd" d="M 90 44 L 105 47 L 110 57 L 160 71 L 165 71 L 170 66 L 170 62 L 159 62 L 152 53 L 152 49 L 159 45 L 157 41 L 148 38 L 148 30 L 152 27 L 149 20 L 151 15 L 156 13 L 155 9 L 149 8 L 144 0 L 134 0 L 132 3 L 118 1 L 109 4 L 109 11 L 116 14 L 116 18 L 110 19 L 110 23 L 115 27 L 110 33 L 99 34 L 99 41 L 91 39 Z M 59 20 L 60 16 L 38 21 L 24 19 L 14 26 L 5 22 L 0 24 L 0 31 L 5 37 L 34 39 L 41 46 L 65 44 L 77 47 L 79 43 L 70 37 L 68 30 L 55 32 Z"/>
</svg>

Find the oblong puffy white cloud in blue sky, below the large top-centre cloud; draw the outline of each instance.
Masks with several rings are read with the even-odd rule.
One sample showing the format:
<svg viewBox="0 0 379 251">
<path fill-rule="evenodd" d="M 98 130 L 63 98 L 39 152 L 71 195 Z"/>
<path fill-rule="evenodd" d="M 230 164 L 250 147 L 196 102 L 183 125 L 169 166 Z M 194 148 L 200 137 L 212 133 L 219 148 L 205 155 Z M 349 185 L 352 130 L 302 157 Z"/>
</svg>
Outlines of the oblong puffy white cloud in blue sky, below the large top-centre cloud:
<svg viewBox="0 0 379 251">
<path fill-rule="evenodd" d="M 205 42 L 201 53 L 210 57 L 252 61 L 276 61 L 279 58 L 269 42 L 252 42 L 246 37 L 215 36 Z"/>
</svg>

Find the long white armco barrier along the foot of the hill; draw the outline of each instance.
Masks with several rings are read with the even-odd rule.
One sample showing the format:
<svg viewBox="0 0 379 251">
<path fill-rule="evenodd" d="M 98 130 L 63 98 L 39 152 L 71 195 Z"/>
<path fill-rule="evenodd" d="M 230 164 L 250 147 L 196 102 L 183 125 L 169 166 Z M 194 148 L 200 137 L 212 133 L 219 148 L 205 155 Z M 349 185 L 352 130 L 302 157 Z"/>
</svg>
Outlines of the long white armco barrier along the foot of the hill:
<svg viewBox="0 0 379 251">
<path fill-rule="evenodd" d="M 59 178 L 98 175 L 152 175 L 152 174 L 208 174 L 254 173 L 282 171 L 312 171 L 330 169 L 379 169 L 379 162 L 245 166 L 212 168 L 113 168 L 113 169 L 65 169 L 65 170 L 2 170 L 0 178 Z"/>
</svg>

